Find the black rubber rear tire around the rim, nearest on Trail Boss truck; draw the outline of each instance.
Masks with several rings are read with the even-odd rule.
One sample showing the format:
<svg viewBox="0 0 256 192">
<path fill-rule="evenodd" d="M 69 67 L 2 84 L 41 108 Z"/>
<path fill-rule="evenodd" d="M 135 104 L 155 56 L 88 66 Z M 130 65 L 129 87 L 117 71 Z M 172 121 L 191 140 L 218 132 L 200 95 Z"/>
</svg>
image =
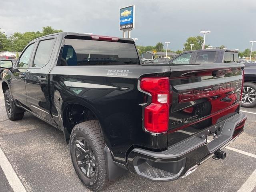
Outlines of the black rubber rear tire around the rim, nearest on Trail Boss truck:
<svg viewBox="0 0 256 192">
<path fill-rule="evenodd" d="M 76 139 L 81 137 L 92 148 L 97 162 L 96 172 L 91 179 L 83 174 L 76 161 Z M 69 145 L 72 163 L 80 180 L 92 191 L 102 190 L 108 184 L 108 174 L 104 156 L 105 141 L 98 120 L 90 120 L 74 126 L 70 135 Z"/>
</svg>

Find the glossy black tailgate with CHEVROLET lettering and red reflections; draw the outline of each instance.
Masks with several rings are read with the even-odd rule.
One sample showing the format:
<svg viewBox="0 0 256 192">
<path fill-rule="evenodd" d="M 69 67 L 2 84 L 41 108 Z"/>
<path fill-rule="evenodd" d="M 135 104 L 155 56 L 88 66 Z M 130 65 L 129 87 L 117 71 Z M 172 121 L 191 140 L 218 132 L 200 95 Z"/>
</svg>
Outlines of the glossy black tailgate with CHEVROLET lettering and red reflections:
<svg viewBox="0 0 256 192">
<path fill-rule="evenodd" d="M 168 146 L 239 112 L 243 64 L 170 68 Z"/>
</svg>

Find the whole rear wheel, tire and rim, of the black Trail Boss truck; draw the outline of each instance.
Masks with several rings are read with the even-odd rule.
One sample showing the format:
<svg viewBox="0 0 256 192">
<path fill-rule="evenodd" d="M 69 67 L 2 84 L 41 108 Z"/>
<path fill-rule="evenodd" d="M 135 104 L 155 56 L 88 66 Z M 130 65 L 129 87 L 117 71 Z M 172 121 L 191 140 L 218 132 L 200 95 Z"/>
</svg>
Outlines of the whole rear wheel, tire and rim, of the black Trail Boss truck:
<svg viewBox="0 0 256 192">
<path fill-rule="evenodd" d="M 74 126 L 70 135 L 70 155 L 80 180 L 92 191 L 102 190 L 108 183 L 105 142 L 97 120 Z"/>
</svg>

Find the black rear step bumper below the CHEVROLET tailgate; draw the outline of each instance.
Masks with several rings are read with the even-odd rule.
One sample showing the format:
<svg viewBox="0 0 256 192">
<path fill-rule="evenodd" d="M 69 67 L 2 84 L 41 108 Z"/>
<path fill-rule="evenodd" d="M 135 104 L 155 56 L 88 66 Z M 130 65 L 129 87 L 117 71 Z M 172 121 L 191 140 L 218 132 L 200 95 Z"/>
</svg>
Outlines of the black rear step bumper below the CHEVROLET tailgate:
<svg viewBox="0 0 256 192">
<path fill-rule="evenodd" d="M 170 181 L 186 176 L 234 141 L 243 132 L 245 120 L 246 115 L 236 114 L 162 152 L 134 148 L 127 158 L 128 168 L 152 181 Z M 218 137 L 207 143 L 205 138 L 210 132 L 216 132 Z"/>
</svg>

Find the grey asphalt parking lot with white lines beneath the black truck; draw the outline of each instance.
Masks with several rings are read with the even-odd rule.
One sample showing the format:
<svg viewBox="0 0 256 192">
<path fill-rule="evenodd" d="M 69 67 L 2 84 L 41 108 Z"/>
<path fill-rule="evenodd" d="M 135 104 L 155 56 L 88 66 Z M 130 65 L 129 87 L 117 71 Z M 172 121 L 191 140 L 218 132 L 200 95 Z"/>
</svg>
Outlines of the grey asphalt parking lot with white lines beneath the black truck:
<svg viewBox="0 0 256 192">
<path fill-rule="evenodd" d="M 242 111 L 248 117 L 245 132 L 226 148 L 225 160 L 210 159 L 173 182 L 127 173 L 105 191 L 256 192 L 256 108 Z M 10 121 L 2 94 L 0 114 L 0 192 L 89 191 L 76 176 L 61 131 L 27 112 L 22 120 Z"/>
</svg>

